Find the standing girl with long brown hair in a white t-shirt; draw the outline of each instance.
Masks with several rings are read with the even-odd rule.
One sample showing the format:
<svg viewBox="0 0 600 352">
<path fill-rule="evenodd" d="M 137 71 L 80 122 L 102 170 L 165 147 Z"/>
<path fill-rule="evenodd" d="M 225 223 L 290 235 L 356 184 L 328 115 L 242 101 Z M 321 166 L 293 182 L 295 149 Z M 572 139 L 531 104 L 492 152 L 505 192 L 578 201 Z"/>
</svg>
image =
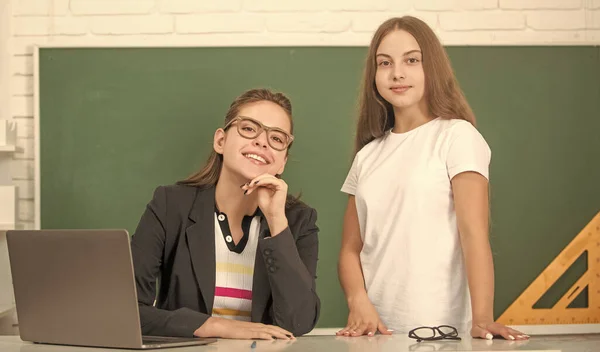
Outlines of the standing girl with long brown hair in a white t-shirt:
<svg viewBox="0 0 600 352">
<path fill-rule="evenodd" d="M 350 313 L 338 335 L 450 325 L 527 338 L 493 318 L 491 152 L 474 125 L 431 28 L 410 16 L 384 22 L 369 47 L 342 187 L 339 276 Z"/>
</svg>

